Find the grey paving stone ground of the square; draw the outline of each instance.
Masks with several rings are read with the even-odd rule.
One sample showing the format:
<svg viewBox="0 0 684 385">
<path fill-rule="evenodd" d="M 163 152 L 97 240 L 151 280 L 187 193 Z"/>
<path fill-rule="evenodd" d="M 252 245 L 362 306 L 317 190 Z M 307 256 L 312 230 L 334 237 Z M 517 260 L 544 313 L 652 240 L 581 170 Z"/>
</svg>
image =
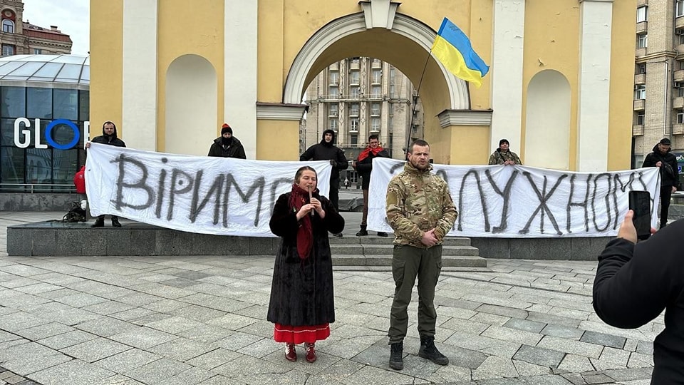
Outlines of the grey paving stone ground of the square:
<svg viewBox="0 0 684 385">
<path fill-rule="evenodd" d="M 591 307 L 596 262 L 488 260 L 444 270 L 438 366 L 418 357 L 417 292 L 405 369 L 388 367 L 387 270 L 334 272 L 336 322 L 318 361 L 286 361 L 266 321 L 273 256 L 8 257 L 0 212 L 0 385 L 650 384 L 663 316 L 639 329 Z M 358 213 L 346 213 L 360 216 Z M 356 216 L 355 216 L 356 215 Z M 346 230 L 346 236 L 357 227 Z"/>
</svg>

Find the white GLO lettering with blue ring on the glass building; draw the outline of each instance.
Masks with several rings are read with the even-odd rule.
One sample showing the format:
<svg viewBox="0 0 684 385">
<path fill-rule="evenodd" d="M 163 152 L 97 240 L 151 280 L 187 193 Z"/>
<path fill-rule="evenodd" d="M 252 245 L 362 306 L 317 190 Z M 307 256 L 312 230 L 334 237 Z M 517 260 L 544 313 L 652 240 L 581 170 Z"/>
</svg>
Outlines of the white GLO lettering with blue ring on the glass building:
<svg viewBox="0 0 684 385">
<path fill-rule="evenodd" d="M 24 128 L 21 128 L 22 125 L 24 125 Z M 66 125 L 68 128 L 73 130 L 73 139 L 71 142 L 60 144 L 54 140 L 53 133 L 58 125 Z M 31 128 L 31 120 L 28 120 L 27 118 L 16 118 L 14 120 L 14 145 L 19 148 L 27 148 L 29 145 L 31 145 L 31 130 L 28 128 Z M 86 121 L 83 122 L 83 147 L 86 146 L 89 136 L 90 122 Z M 33 120 L 33 138 L 35 138 L 33 145 L 36 148 L 48 148 L 48 145 L 51 145 L 53 148 L 58 150 L 69 150 L 73 148 L 76 143 L 78 143 L 78 140 L 81 139 L 81 130 L 79 130 L 78 125 L 73 123 L 71 120 L 56 119 L 51 121 L 50 124 L 48 124 L 48 126 L 45 128 L 45 141 L 47 144 L 41 143 L 41 120 L 36 118 Z M 22 141 L 22 139 L 24 141 Z"/>
</svg>

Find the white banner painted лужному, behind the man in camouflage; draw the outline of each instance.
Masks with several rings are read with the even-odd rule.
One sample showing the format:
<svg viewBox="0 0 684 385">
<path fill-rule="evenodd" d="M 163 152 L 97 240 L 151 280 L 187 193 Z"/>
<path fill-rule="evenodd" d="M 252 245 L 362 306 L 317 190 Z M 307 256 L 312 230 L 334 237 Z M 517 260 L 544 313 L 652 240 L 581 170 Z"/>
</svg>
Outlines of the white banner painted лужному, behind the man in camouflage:
<svg viewBox="0 0 684 385">
<path fill-rule="evenodd" d="M 405 162 L 373 159 L 368 229 L 392 232 L 385 215 L 387 185 Z M 607 237 L 628 210 L 628 191 L 651 193 L 651 225 L 658 224 L 658 168 L 615 173 L 572 173 L 518 165 L 432 165 L 458 211 L 451 236 Z"/>
</svg>

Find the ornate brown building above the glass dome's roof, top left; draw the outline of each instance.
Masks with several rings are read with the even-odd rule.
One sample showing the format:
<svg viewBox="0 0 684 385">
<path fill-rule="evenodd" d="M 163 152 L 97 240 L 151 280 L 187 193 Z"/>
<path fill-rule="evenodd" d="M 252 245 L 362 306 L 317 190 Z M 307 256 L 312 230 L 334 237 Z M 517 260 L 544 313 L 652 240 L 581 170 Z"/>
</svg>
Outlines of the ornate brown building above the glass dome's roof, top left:
<svg viewBox="0 0 684 385">
<path fill-rule="evenodd" d="M 23 21 L 24 1 L 0 0 L 0 47 L 2 56 L 60 55 L 71 53 L 71 38 L 57 26 L 43 28 Z"/>
</svg>

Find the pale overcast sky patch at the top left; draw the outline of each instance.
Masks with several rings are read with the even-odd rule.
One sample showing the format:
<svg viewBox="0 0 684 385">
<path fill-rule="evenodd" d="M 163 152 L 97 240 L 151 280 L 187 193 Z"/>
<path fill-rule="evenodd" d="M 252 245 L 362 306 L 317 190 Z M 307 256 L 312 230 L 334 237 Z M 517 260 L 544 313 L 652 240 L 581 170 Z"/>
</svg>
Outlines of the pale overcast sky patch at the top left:
<svg viewBox="0 0 684 385">
<path fill-rule="evenodd" d="M 57 26 L 71 37 L 74 55 L 90 51 L 89 11 L 90 0 L 24 0 L 24 21 L 43 28 Z"/>
</svg>

